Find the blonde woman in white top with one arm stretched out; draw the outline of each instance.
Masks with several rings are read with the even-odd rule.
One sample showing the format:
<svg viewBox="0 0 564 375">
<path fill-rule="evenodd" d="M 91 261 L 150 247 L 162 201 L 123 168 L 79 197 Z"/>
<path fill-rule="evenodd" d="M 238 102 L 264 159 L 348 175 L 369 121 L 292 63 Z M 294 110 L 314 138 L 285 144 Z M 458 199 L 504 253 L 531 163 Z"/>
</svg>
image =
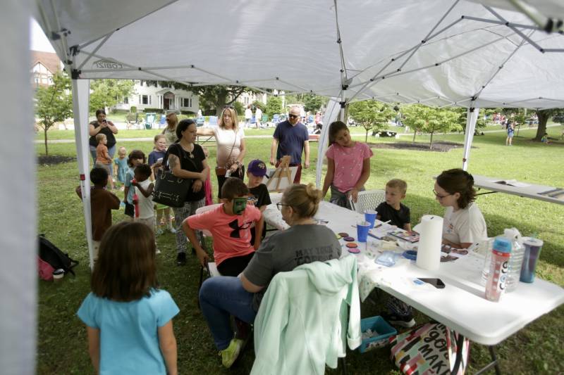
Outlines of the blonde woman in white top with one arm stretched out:
<svg viewBox="0 0 564 375">
<path fill-rule="evenodd" d="M 237 111 L 232 106 L 226 106 L 217 121 L 217 127 L 198 128 L 200 136 L 215 136 L 217 143 L 217 190 L 221 198 L 221 186 L 228 177 L 245 177 L 245 133 L 239 128 Z M 226 173 L 224 173 L 226 172 Z"/>
</svg>

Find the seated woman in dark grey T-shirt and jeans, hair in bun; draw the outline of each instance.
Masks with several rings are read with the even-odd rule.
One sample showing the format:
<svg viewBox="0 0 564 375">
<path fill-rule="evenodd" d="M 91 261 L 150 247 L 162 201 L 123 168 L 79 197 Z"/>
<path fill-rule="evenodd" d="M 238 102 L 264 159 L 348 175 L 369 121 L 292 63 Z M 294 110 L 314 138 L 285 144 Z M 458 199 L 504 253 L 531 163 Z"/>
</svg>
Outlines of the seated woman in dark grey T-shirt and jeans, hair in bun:
<svg viewBox="0 0 564 375">
<path fill-rule="evenodd" d="M 216 348 L 221 350 L 223 366 L 231 367 L 244 343 L 235 338 L 230 315 L 254 322 L 274 275 L 341 256 L 341 244 L 333 231 L 313 219 L 319 201 L 321 191 L 313 184 L 288 187 L 277 206 L 290 228 L 267 237 L 239 277 L 212 277 L 202 284 L 200 306 Z"/>
</svg>

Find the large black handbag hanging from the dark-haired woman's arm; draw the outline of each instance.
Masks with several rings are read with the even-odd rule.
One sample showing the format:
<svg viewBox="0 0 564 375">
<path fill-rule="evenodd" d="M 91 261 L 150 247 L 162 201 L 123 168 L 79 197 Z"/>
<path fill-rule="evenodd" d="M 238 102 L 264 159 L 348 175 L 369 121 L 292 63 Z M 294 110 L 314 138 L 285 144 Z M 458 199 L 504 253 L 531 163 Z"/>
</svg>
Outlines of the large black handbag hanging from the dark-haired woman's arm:
<svg viewBox="0 0 564 375">
<path fill-rule="evenodd" d="M 180 150 L 185 153 L 183 148 L 181 146 L 179 147 Z M 168 151 L 166 152 L 165 158 L 164 160 L 168 160 Z M 167 169 L 161 172 L 157 179 L 155 179 L 153 202 L 170 207 L 183 207 L 188 191 L 192 188 L 193 180 L 176 177 L 168 169 L 168 165 L 166 168 Z"/>
</svg>

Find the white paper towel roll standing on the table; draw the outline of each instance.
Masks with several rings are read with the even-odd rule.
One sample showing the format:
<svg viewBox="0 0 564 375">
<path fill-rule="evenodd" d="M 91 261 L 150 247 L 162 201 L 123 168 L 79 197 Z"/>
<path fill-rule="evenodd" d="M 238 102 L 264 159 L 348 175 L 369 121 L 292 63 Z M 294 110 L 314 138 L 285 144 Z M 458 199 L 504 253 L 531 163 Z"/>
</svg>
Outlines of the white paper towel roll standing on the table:
<svg viewBox="0 0 564 375">
<path fill-rule="evenodd" d="M 441 265 L 443 218 L 435 215 L 424 215 L 419 225 L 417 267 L 436 271 Z"/>
</svg>

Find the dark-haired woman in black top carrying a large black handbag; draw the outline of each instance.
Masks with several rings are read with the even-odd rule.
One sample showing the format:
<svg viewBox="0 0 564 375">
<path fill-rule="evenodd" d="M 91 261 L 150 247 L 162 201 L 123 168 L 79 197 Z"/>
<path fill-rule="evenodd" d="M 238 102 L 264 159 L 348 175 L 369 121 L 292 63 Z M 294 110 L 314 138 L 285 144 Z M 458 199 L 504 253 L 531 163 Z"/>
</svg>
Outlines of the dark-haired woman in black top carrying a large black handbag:
<svg viewBox="0 0 564 375">
<path fill-rule="evenodd" d="M 176 262 L 178 265 L 186 263 L 186 236 L 182 230 L 182 222 L 196 210 L 204 207 L 204 182 L 209 174 L 204 150 L 196 141 L 196 123 L 193 120 L 182 120 L 176 126 L 178 141 L 168 146 L 168 167 L 173 175 L 183 179 L 192 179 L 192 186 L 186 194 L 183 207 L 173 208 L 174 224 L 176 225 Z M 197 232 L 198 240 L 204 243 L 202 232 Z"/>
</svg>

